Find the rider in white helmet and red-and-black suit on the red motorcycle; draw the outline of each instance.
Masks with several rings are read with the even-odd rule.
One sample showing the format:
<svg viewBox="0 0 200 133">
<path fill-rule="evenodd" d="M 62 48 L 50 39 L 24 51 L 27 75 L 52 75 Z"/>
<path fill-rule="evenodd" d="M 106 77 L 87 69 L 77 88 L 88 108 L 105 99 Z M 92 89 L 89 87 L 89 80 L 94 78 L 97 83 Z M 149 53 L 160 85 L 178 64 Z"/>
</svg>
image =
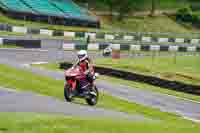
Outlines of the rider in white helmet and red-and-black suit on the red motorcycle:
<svg viewBox="0 0 200 133">
<path fill-rule="evenodd" d="M 93 82 L 94 69 L 91 64 L 91 59 L 88 57 L 86 50 L 80 50 L 77 53 L 78 63 L 77 65 L 82 69 L 86 75 L 86 79 L 80 81 L 81 93 L 87 93 L 90 83 Z"/>
</svg>

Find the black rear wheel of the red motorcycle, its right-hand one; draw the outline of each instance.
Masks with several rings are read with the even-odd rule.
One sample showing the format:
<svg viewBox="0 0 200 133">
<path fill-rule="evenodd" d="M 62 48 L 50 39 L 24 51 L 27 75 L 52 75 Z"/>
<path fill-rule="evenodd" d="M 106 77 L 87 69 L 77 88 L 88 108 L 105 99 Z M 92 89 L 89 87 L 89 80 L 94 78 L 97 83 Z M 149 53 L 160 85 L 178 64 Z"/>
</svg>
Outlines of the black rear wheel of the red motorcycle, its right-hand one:
<svg viewBox="0 0 200 133">
<path fill-rule="evenodd" d="M 96 86 L 93 87 L 92 91 L 95 92 L 96 95 L 90 94 L 90 98 L 87 98 L 87 99 L 86 99 L 86 102 L 87 102 L 89 105 L 94 106 L 94 105 L 96 105 L 97 102 L 98 102 L 99 91 L 98 91 L 98 89 L 97 89 Z"/>
</svg>

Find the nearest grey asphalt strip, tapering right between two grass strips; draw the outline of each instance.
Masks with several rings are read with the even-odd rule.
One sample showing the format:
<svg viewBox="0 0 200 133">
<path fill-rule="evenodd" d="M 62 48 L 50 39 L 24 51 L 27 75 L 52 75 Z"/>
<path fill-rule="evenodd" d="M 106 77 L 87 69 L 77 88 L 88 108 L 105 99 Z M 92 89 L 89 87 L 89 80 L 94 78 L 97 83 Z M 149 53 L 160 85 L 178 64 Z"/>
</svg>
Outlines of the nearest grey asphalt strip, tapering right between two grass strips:
<svg viewBox="0 0 200 133">
<path fill-rule="evenodd" d="M 41 96 L 32 92 L 15 92 L 2 87 L 0 87 L 0 112 L 37 112 L 134 121 L 151 120 L 141 115 L 128 115 L 123 112 L 70 104 L 52 97 Z"/>
</svg>

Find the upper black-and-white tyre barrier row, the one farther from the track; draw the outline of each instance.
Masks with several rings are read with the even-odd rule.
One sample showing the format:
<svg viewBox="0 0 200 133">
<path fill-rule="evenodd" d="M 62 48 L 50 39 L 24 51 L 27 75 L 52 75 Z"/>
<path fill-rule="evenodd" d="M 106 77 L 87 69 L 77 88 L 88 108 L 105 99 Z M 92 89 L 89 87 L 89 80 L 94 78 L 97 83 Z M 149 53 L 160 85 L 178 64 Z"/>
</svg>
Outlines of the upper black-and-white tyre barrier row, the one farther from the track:
<svg viewBox="0 0 200 133">
<path fill-rule="evenodd" d="M 39 29 L 25 26 L 14 26 L 0 23 L 0 31 L 35 34 L 46 36 L 62 36 L 68 38 L 85 38 L 92 40 L 103 39 L 105 41 L 140 41 L 143 43 L 175 43 L 175 44 L 200 44 L 200 35 L 198 33 L 157 33 L 157 32 L 75 32 Z"/>
</svg>

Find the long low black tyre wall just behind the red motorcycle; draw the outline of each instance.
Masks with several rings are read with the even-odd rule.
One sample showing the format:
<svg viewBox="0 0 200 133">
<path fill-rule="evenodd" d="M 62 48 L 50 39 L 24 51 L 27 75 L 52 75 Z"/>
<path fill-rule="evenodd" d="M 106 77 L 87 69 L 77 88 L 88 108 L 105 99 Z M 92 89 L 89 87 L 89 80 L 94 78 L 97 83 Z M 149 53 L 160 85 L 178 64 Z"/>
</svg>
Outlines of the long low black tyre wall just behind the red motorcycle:
<svg viewBox="0 0 200 133">
<path fill-rule="evenodd" d="M 60 63 L 61 69 L 67 69 L 71 66 L 72 66 L 71 63 L 67 63 L 67 62 Z M 146 84 L 150 84 L 150 85 L 154 85 L 154 86 L 158 86 L 158 87 L 162 87 L 162 88 L 166 88 L 170 90 L 175 90 L 179 92 L 200 95 L 200 86 L 198 85 L 185 84 L 182 82 L 170 81 L 170 80 L 165 80 L 165 79 L 161 79 L 161 78 L 157 78 L 153 76 L 146 76 L 142 74 L 125 72 L 121 70 L 115 70 L 112 68 L 104 68 L 104 67 L 98 67 L 98 66 L 95 66 L 95 71 L 102 75 L 117 77 L 124 80 L 129 80 L 129 81 L 146 83 Z"/>
</svg>

